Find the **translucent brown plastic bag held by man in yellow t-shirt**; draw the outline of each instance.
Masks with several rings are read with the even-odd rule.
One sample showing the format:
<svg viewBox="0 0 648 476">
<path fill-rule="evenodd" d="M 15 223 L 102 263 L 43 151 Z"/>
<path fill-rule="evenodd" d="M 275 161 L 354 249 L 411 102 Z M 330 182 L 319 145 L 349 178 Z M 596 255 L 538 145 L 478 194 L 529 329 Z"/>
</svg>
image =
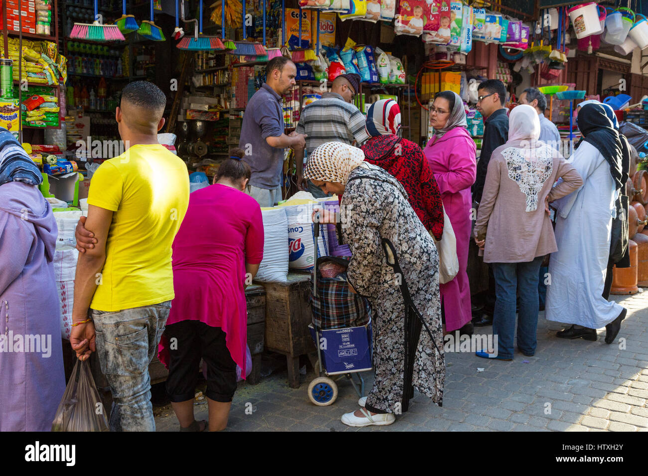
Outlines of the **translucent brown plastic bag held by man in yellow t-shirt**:
<svg viewBox="0 0 648 476">
<path fill-rule="evenodd" d="M 108 431 L 89 361 L 77 360 L 56 410 L 52 431 Z"/>
</svg>

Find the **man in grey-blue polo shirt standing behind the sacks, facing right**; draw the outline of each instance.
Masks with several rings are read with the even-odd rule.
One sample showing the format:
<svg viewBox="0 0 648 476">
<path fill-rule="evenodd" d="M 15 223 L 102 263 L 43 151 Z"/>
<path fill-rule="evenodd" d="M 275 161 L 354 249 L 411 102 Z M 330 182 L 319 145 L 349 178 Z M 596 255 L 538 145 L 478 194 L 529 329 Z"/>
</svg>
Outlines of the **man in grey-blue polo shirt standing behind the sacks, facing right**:
<svg viewBox="0 0 648 476">
<path fill-rule="evenodd" d="M 266 65 L 266 82 L 249 99 L 243 115 L 238 146 L 252 175 L 246 193 L 261 207 L 281 201 L 284 148 L 304 147 L 305 134 L 284 134 L 281 96 L 292 91 L 297 76 L 295 63 L 284 56 Z"/>
</svg>

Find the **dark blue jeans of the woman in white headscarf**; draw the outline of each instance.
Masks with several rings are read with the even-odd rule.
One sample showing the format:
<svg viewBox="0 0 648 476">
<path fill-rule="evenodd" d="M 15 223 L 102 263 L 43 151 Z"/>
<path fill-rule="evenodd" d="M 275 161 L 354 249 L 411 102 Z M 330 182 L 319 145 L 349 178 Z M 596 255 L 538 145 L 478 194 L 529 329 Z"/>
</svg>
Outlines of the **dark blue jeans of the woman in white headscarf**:
<svg viewBox="0 0 648 476">
<path fill-rule="evenodd" d="M 492 320 L 492 334 L 498 339 L 498 355 L 513 358 L 516 292 L 520 294 L 518 348 L 533 356 L 537 346 L 538 273 L 544 256 L 526 263 L 492 263 L 497 300 Z"/>
</svg>

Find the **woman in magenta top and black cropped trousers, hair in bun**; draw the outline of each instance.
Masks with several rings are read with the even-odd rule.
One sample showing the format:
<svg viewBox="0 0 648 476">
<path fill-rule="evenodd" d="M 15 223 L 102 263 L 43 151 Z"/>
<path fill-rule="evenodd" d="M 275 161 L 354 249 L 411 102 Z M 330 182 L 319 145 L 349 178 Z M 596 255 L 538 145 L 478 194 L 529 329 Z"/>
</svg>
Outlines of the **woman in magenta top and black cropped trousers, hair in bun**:
<svg viewBox="0 0 648 476">
<path fill-rule="evenodd" d="M 257 201 L 242 192 L 250 176 L 249 165 L 240 161 L 243 152 L 235 149 L 232 155 L 214 185 L 192 192 L 173 244 L 176 297 L 162 354 L 168 351 L 167 392 L 181 431 L 206 426 L 193 414 L 201 357 L 207 364 L 210 431 L 227 426 L 236 366 L 246 375 L 245 286 L 263 257 L 263 221 Z"/>
</svg>

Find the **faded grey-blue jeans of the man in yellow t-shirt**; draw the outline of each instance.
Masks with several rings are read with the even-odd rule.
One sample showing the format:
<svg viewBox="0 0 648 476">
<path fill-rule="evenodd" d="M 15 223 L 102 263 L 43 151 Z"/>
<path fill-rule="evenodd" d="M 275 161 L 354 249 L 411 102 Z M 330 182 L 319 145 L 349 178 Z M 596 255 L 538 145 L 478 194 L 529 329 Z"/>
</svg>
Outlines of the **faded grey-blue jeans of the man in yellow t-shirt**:
<svg viewBox="0 0 648 476">
<path fill-rule="evenodd" d="M 99 365 L 113 394 L 110 431 L 156 431 L 148 365 L 170 310 L 171 301 L 115 312 L 90 310 Z"/>
</svg>

